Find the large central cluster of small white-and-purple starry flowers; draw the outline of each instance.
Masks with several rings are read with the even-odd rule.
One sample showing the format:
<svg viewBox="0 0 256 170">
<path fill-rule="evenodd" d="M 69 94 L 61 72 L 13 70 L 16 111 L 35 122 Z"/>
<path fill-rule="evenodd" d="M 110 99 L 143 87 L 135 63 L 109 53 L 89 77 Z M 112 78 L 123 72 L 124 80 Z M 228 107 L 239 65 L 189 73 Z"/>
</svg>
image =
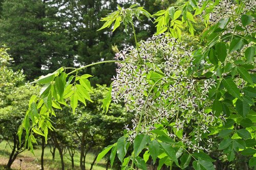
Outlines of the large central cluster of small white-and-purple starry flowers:
<svg viewBox="0 0 256 170">
<path fill-rule="evenodd" d="M 116 54 L 116 60 L 127 63 L 117 63 L 112 100 L 123 100 L 127 110 L 134 112 L 133 127 L 126 127 L 131 141 L 138 128 L 139 133 L 150 134 L 157 124 L 165 122 L 173 127 L 168 135 L 176 137 L 189 124 L 196 128 L 190 131 L 185 144 L 193 150 L 204 149 L 196 143 L 202 141 L 201 134 L 209 132 L 209 126 L 216 125 L 217 117 L 208 109 L 212 105 L 208 93 L 216 82 L 187 76 L 193 60 L 191 49 L 185 46 L 168 34 L 161 34 L 142 41 L 139 53 L 129 47 Z"/>
</svg>

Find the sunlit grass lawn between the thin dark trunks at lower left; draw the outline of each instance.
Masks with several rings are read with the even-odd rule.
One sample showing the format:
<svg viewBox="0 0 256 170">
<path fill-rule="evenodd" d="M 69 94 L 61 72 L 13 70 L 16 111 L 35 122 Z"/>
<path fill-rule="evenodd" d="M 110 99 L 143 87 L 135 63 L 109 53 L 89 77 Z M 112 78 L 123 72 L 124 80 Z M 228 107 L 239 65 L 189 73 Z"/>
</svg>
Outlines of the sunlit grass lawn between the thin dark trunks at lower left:
<svg viewBox="0 0 256 170">
<path fill-rule="evenodd" d="M 9 155 L 11 153 L 11 148 L 7 144 L 6 141 L 3 141 L 0 143 L 0 169 L 4 169 L 4 165 L 7 164 Z M 34 153 L 36 155 L 36 158 L 30 151 L 25 151 L 23 153 L 20 153 L 16 160 L 13 162 L 11 168 L 12 169 L 19 169 L 20 166 L 20 159 L 22 159 L 22 166 L 21 169 L 40 169 L 40 156 L 41 156 L 41 150 L 40 146 L 34 147 Z M 37 159 L 37 160 L 36 160 Z M 72 169 L 71 166 L 71 160 L 69 153 L 67 152 L 64 157 L 64 163 L 65 163 L 65 169 Z M 86 157 L 86 169 L 90 169 L 91 163 L 93 162 L 94 155 L 92 153 L 88 153 Z M 80 160 L 80 154 L 77 152 L 74 156 L 74 169 L 80 169 L 79 168 L 79 160 Z M 45 154 L 44 154 L 44 168 L 45 169 L 61 169 L 61 163 L 60 163 L 60 157 L 58 154 L 58 150 L 56 149 L 55 152 L 55 160 L 52 160 L 52 154 L 50 152 L 50 148 L 45 148 Z M 94 170 L 103 170 L 106 168 L 106 162 L 105 159 L 102 159 L 99 161 L 97 165 L 93 166 Z"/>
</svg>

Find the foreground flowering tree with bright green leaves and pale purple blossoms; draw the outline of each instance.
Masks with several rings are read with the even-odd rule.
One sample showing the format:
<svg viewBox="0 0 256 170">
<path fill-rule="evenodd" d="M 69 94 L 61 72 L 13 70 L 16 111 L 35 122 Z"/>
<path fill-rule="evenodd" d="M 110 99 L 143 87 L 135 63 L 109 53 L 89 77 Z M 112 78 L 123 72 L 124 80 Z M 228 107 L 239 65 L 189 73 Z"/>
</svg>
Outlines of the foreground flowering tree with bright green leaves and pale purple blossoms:
<svg viewBox="0 0 256 170">
<path fill-rule="evenodd" d="M 134 18 L 141 15 L 155 19 L 157 31 L 138 42 Z M 196 49 L 187 48 L 181 37 L 184 27 L 194 34 L 194 17 L 209 26 L 201 37 L 206 38 L 206 44 Z M 67 105 L 63 98 L 68 96 L 75 112 L 78 101 L 90 100 L 90 75 L 80 76 L 79 70 L 116 62 L 117 75 L 102 106 L 108 111 L 111 101 L 123 101 L 134 113 L 133 124 L 98 155 L 98 160 L 111 151 L 111 165 L 117 156 L 122 169 L 147 169 L 149 157 L 154 163 L 158 160 L 158 168 L 165 164 L 170 169 L 189 165 L 215 169 L 215 160 L 207 154 L 214 144 L 212 138 L 219 137 L 218 150 L 224 150 L 228 161 L 240 153 L 249 156 L 249 166 L 256 165 L 255 1 L 190 0 L 153 15 L 132 5 L 118 7 L 102 20 L 105 22 L 99 30 L 113 25 L 115 30 L 121 22 L 125 28 L 131 27 L 135 46 L 121 51 L 113 46 L 116 60 L 77 69 L 61 67 L 34 81 L 45 86 L 33 98 L 20 125 L 19 129 L 26 130 L 26 140 L 31 131 L 45 135 L 47 128 L 41 125 L 52 114 L 53 103 Z M 38 114 L 41 107 L 46 109 Z M 28 140 L 28 148 L 31 145 Z M 130 145 L 133 152 L 126 155 Z"/>
</svg>

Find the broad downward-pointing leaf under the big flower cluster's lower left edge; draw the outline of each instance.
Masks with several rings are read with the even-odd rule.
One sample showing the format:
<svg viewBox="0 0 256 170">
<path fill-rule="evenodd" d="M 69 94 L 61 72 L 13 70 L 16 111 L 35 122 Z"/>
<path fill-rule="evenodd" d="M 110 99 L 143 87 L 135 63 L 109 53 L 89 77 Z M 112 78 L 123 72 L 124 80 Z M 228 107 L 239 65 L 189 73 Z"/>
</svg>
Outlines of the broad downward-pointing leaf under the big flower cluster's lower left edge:
<svg viewBox="0 0 256 170">
<path fill-rule="evenodd" d="M 145 148 L 146 144 L 150 141 L 150 137 L 144 134 L 138 134 L 134 139 L 134 152 L 135 156 L 138 156 L 139 153 Z"/>
</svg>

